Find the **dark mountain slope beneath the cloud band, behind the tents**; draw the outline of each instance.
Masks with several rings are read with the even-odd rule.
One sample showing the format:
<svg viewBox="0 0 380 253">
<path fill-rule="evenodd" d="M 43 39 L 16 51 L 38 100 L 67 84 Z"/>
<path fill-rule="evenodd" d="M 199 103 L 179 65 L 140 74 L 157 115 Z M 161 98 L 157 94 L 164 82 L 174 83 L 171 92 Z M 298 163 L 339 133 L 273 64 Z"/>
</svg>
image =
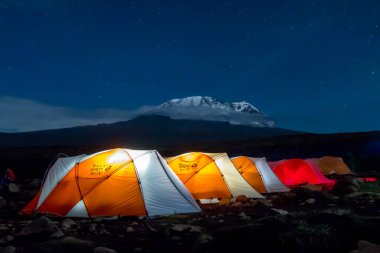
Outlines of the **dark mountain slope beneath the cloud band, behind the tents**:
<svg viewBox="0 0 380 253">
<path fill-rule="evenodd" d="M 0 147 L 59 145 L 120 145 L 125 147 L 181 145 L 183 143 L 243 140 L 300 133 L 281 128 L 254 128 L 228 122 L 175 120 L 143 115 L 111 124 L 78 126 L 19 133 L 1 133 Z"/>
</svg>

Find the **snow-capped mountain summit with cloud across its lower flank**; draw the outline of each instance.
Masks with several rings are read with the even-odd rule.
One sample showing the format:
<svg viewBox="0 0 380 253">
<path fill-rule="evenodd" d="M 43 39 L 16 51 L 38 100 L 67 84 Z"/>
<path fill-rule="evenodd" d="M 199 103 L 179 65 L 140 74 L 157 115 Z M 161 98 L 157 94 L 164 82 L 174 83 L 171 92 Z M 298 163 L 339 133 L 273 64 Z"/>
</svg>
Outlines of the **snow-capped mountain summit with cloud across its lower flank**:
<svg viewBox="0 0 380 253">
<path fill-rule="evenodd" d="M 236 125 L 275 127 L 271 119 L 246 101 L 221 102 L 207 96 L 175 98 L 156 107 L 145 108 L 142 114 L 165 115 L 172 119 L 227 121 Z"/>
</svg>

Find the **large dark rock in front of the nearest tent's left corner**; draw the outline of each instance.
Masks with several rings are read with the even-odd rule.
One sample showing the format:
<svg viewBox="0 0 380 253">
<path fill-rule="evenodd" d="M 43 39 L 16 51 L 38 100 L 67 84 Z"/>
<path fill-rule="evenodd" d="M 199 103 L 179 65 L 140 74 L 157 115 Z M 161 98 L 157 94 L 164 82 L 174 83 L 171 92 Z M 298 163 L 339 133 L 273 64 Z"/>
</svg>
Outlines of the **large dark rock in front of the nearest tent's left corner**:
<svg viewBox="0 0 380 253">
<path fill-rule="evenodd" d="M 40 238 L 61 238 L 65 234 L 47 217 L 41 216 L 27 224 L 18 236 L 38 236 Z"/>
</svg>

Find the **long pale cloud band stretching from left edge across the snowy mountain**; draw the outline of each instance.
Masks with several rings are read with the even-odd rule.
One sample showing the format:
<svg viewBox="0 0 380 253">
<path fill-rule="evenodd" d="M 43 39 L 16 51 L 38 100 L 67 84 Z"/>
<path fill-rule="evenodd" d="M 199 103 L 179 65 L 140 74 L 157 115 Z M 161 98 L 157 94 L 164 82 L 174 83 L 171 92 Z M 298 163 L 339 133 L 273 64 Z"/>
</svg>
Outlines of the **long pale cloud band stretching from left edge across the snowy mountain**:
<svg viewBox="0 0 380 253">
<path fill-rule="evenodd" d="M 137 110 L 96 109 L 82 110 L 44 104 L 30 99 L 0 97 L 0 132 L 25 132 L 96 125 L 130 120 L 139 115 L 158 114 L 172 119 L 228 121 L 231 124 L 273 126 L 274 122 L 262 114 L 215 111 L 212 108 L 156 108 L 145 106 Z"/>
</svg>

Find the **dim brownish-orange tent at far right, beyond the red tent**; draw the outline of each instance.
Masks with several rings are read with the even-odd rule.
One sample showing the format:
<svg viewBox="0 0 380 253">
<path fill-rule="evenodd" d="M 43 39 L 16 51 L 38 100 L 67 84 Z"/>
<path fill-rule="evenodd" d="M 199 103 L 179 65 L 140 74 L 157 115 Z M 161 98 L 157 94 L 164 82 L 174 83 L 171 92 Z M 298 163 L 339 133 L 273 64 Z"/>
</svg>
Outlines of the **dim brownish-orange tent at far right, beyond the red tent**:
<svg viewBox="0 0 380 253">
<path fill-rule="evenodd" d="M 319 170 L 324 175 L 330 174 L 352 174 L 352 171 L 341 157 L 324 156 L 317 161 Z"/>
</svg>

